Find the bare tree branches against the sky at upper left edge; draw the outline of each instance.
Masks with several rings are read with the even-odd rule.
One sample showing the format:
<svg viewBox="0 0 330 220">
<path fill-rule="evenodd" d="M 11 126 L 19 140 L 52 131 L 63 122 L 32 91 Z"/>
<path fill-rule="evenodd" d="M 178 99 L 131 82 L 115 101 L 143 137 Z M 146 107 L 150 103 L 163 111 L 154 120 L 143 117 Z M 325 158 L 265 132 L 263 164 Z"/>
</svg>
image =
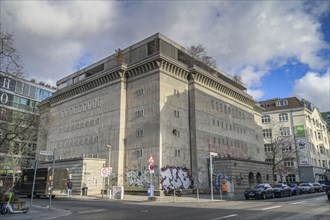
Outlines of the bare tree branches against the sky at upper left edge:
<svg viewBox="0 0 330 220">
<path fill-rule="evenodd" d="M 3 32 L 0 24 L 0 72 L 7 75 L 23 76 L 23 62 L 17 53 L 14 36 Z"/>
</svg>

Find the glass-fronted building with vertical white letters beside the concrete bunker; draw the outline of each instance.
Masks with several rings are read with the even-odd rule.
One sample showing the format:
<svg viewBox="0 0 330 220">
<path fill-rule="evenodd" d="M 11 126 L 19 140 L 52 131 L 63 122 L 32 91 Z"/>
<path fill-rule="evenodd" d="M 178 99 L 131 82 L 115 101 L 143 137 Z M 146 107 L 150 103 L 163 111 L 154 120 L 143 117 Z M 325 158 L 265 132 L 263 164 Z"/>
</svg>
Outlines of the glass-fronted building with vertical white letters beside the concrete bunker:
<svg viewBox="0 0 330 220">
<path fill-rule="evenodd" d="M 0 73 L 0 173 L 31 166 L 37 146 L 37 105 L 55 91 L 44 82 Z"/>
</svg>

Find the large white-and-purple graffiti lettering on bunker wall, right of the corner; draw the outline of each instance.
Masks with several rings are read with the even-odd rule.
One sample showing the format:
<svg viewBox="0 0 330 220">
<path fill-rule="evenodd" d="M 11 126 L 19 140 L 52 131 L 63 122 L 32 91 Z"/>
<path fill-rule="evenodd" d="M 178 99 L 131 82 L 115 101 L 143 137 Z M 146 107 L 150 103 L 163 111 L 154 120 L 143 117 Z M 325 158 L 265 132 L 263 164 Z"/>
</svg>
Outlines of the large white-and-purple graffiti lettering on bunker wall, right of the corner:
<svg viewBox="0 0 330 220">
<path fill-rule="evenodd" d="M 167 189 L 170 186 L 176 189 L 193 187 L 193 179 L 187 168 L 167 166 L 161 169 L 161 178 L 163 189 Z"/>
</svg>

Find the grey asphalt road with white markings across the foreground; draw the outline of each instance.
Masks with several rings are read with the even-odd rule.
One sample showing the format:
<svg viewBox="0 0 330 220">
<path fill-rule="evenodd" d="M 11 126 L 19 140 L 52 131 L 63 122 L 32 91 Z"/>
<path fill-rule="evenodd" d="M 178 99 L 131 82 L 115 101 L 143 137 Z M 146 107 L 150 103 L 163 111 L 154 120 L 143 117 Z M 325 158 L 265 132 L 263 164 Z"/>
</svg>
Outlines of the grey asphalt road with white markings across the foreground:
<svg viewBox="0 0 330 220">
<path fill-rule="evenodd" d="M 35 200 L 40 205 L 46 199 Z M 54 199 L 53 206 L 71 214 L 57 219 L 108 220 L 329 220 L 330 202 L 324 193 L 268 200 L 214 202 L 131 202 Z"/>
</svg>

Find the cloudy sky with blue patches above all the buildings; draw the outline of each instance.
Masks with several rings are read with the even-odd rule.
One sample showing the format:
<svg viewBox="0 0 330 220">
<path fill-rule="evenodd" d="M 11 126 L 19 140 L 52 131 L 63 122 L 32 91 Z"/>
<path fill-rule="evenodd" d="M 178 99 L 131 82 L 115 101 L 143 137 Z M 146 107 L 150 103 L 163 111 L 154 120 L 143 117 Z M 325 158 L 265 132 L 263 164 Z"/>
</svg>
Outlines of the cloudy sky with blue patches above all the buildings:
<svg viewBox="0 0 330 220">
<path fill-rule="evenodd" d="M 297 96 L 330 110 L 329 1 L 6 1 L 28 77 L 56 81 L 152 34 L 203 44 L 256 100 Z"/>
</svg>

